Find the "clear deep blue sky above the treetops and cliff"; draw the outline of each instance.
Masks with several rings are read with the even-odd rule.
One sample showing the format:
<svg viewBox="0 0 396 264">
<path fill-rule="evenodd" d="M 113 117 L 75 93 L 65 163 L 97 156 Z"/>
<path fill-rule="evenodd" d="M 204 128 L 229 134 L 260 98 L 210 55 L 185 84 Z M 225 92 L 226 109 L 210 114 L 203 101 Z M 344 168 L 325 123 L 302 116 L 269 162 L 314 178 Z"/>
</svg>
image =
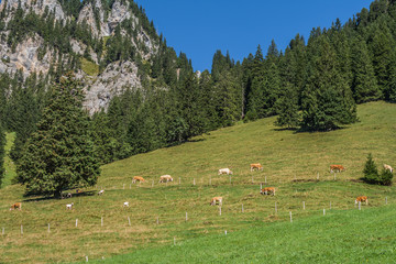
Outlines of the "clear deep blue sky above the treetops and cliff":
<svg viewBox="0 0 396 264">
<path fill-rule="evenodd" d="M 195 70 L 211 69 L 217 50 L 242 61 L 257 45 L 264 55 L 275 40 L 286 48 L 297 33 L 306 42 L 312 28 L 330 28 L 337 18 L 342 23 L 373 0 L 135 0 L 142 6 L 158 33 L 176 53 L 184 52 Z"/>
</svg>

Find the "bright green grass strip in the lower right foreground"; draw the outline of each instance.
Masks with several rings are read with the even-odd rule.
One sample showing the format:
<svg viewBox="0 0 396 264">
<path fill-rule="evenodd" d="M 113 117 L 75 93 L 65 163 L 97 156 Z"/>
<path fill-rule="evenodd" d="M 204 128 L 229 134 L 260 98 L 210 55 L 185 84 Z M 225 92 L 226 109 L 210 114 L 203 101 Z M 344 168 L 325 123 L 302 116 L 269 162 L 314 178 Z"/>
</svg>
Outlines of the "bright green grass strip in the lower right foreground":
<svg viewBox="0 0 396 264">
<path fill-rule="evenodd" d="M 92 263 L 395 263 L 395 206 L 331 211 Z"/>
</svg>

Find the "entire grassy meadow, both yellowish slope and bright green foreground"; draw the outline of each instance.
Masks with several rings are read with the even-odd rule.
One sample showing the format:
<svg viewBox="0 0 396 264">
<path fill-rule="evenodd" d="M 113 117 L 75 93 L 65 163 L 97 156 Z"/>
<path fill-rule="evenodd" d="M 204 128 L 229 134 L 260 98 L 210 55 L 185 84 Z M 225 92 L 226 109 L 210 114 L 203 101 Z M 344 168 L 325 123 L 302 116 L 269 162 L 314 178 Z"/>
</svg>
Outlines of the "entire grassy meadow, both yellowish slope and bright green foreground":
<svg viewBox="0 0 396 264">
<path fill-rule="evenodd" d="M 68 199 L 23 197 L 22 186 L 7 186 L 0 190 L 0 263 L 86 256 L 109 263 L 388 262 L 396 188 L 360 178 L 369 153 L 378 167 L 396 166 L 396 105 L 361 105 L 359 119 L 326 133 L 279 130 L 275 118 L 240 123 L 102 166 L 96 187 L 70 190 Z M 264 169 L 250 172 L 251 163 Z M 331 174 L 331 164 L 346 170 Z M 224 167 L 231 177 L 218 175 Z M 164 174 L 174 182 L 160 184 Z M 146 180 L 131 184 L 133 176 Z M 276 196 L 260 195 L 261 185 L 275 187 Z M 361 211 L 354 205 L 360 195 L 370 201 Z M 221 215 L 209 205 L 215 196 L 223 197 Z M 10 211 L 16 201 L 22 211 Z"/>
</svg>

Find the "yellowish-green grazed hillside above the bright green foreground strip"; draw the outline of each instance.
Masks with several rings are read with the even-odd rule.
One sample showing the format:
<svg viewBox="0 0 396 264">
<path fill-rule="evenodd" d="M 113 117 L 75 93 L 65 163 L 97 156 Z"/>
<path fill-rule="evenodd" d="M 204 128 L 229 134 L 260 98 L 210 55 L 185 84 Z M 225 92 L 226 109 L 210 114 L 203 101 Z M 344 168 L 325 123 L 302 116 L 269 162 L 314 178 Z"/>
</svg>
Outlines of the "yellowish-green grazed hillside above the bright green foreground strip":
<svg viewBox="0 0 396 264">
<path fill-rule="evenodd" d="M 278 130 L 274 118 L 239 124 L 180 146 L 106 165 L 97 188 L 65 200 L 26 199 L 20 186 L 9 186 L 0 190 L 0 229 L 4 228 L 0 262 L 81 261 L 86 255 L 109 258 L 170 245 L 174 238 L 205 240 L 224 230 L 233 233 L 288 221 L 289 211 L 295 221 L 318 217 L 323 208 L 330 210 L 330 202 L 331 210 L 354 209 L 359 195 L 370 197 L 369 208 L 383 206 L 385 197 L 396 204 L 395 187 L 358 180 L 370 152 L 377 164 L 396 166 L 395 113 L 396 105 L 366 103 L 359 107 L 359 123 L 328 133 Z M 256 162 L 264 170 L 251 173 L 249 164 Z M 342 164 L 346 172 L 337 174 L 334 180 L 330 164 Z M 231 183 L 229 176 L 217 175 L 222 167 L 234 172 Z M 175 182 L 158 184 L 164 174 Z M 131 185 L 135 175 L 146 183 Z M 277 188 L 275 197 L 258 194 L 265 179 L 267 186 Z M 105 195 L 97 196 L 101 188 Z M 218 207 L 209 206 L 213 196 L 224 198 L 221 216 Z M 22 211 L 9 211 L 15 201 L 23 201 Z M 129 208 L 122 207 L 124 201 L 130 202 Z M 70 202 L 75 207 L 67 211 L 65 205 Z"/>
</svg>

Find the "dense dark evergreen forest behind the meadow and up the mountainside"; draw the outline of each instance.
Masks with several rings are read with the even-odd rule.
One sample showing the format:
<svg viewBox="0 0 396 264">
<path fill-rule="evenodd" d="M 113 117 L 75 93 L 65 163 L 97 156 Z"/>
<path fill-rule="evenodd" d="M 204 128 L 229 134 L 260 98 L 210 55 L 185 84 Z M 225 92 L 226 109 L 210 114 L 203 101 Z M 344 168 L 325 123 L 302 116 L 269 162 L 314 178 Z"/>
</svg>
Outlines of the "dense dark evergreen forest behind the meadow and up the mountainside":
<svg viewBox="0 0 396 264">
<path fill-rule="evenodd" d="M 64 0 L 68 15 L 78 15 L 88 1 Z M 102 1 L 110 10 L 113 1 Z M 18 164 L 28 139 L 37 129 L 43 109 L 51 102 L 51 87 L 61 76 L 80 68 L 69 40 L 100 54 L 100 70 L 113 62 L 132 61 L 140 70 L 142 89 L 130 87 L 112 99 L 107 111 L 95 113 L 89 134 L 101 164 L 158 147 L 179 144 L 194 135 L 277 114 L 276 125 L 299 131 L 330 131 L 356 122 L 356 103 L 396 101 L 396 3 L 375 0 L 344 24 L 336 20 L 329 29 L 312 29 L 308 41 L 296 34 L 285 51 L 275 41 L 266 53 L 258 45 L 243 62 L 229 53 L 213 55 L 211 72 L 194 73 L 184 53 L 167 46 L 142 8 L 130 0 L 140 25 L 158 46 L 147 62 L 129 43 L 136 35 L 131 20 L 119 24 L 103 42 L 75 20 L 65 24 L 54 14 L 37 15 L 21 6 L 0 31 L 15 46 L 29 34 L 45 40 L 43 54 L 54 51 L 48 75 L 22 73 L 0 76 L 0 118 L 6 131 L 16 133 L 11 157 Z M 7 12 L 0 13 L 3 19 Z M 2 20 L 0 20 L 2 21 Z M 135 28 L 136 29 L 136 28 Z M 127 33 L 125 33 L 127 32 Z M 141 48 L 145 48 L 143 44 Z M 66 59 L 65 59 L 66 58 Z M 55 66 L 56 65 L 56 66 Z M 0 129 L 0 161 L 3 133 Z M 0 175 L 2 168 L 0 163 Z"/>
</svg>

